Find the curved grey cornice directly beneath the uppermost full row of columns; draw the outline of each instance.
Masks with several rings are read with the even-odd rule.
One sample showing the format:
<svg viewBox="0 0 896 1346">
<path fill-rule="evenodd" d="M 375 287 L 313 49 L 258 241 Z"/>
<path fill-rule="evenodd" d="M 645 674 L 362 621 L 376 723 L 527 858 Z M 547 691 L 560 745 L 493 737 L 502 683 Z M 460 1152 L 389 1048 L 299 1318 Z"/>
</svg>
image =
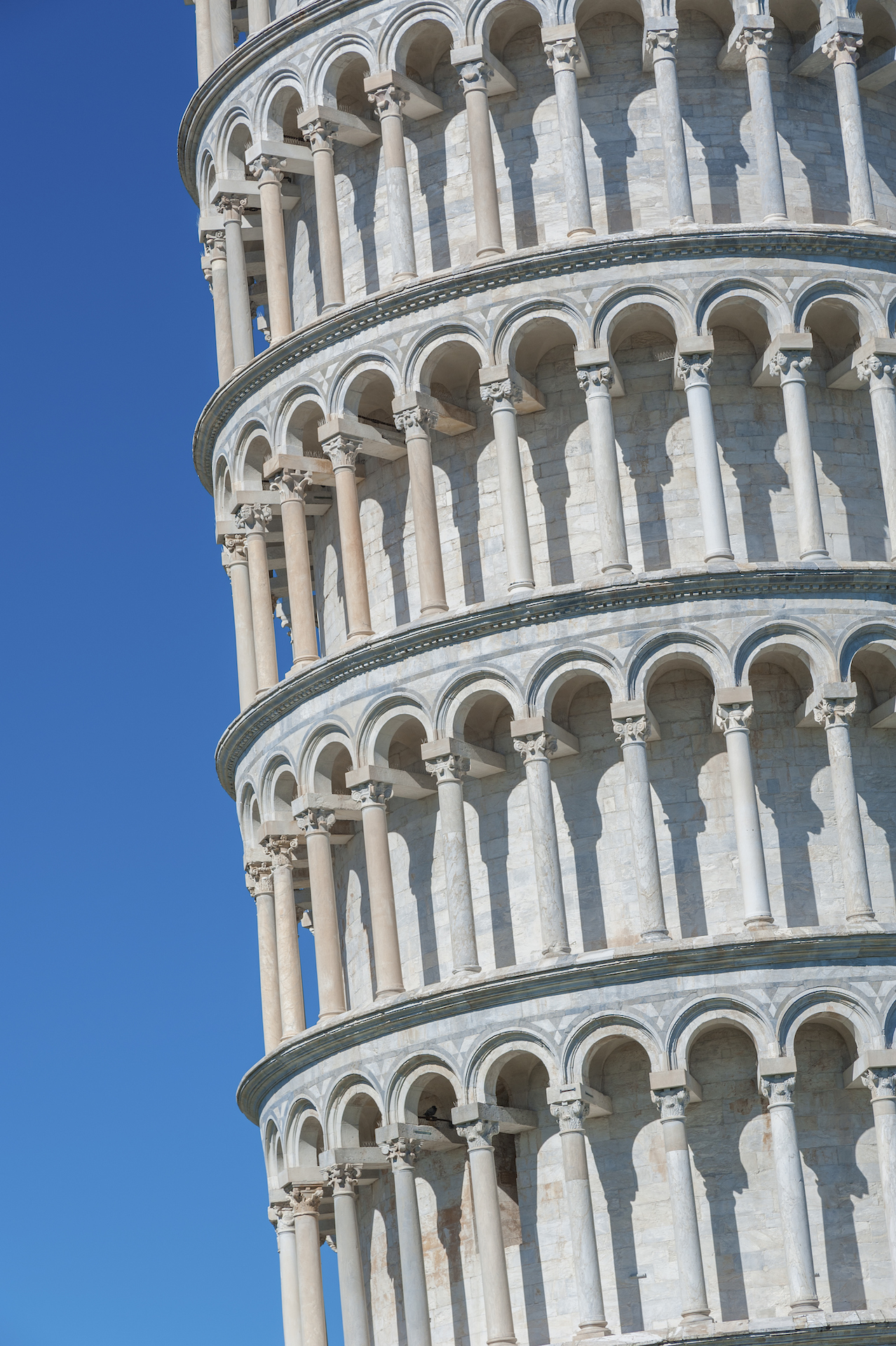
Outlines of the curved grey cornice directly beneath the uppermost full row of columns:
<svg viewBox="0 0 896 1346">
<path fill-rule="evenodd" d="M 301 365 L 328 346 L 351 339 L 409 314 L 418 314 L 452 299 L 463 299 L 521 281 L 601 271 L 639 262 L 698 261 L 701 258 L 774 257 L 823 258 L 841 265 L 896 264 L 896 234 L 811 226 L 767 229 L 720 225 L 657 234 L 620 234 L 577 246 L 527 249 L 496 261 L 478 262 L 428 276 L 414 284 L 369 295 L 335 314 L 309 323 L 252 361 L 219 388 L 207 402 L 192 440 L 192 460 L 203 486 L 213 493 L 211 460 L 215 440 L 234 412 L 278 374 Z"/>
</svg>

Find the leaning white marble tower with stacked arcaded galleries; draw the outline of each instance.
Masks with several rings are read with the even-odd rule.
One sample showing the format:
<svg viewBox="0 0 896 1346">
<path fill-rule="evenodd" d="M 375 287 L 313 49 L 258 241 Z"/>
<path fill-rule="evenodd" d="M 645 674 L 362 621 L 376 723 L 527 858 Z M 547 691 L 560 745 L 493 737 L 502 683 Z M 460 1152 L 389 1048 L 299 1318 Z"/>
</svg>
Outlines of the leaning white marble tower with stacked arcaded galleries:
<svg viewBox="0 0 896 1346">
<path fill-rule="evenodd" d="M 195 0 L 285 1346 L 896 1341 L 896 3 L 771 8 Z"/>
</svg>

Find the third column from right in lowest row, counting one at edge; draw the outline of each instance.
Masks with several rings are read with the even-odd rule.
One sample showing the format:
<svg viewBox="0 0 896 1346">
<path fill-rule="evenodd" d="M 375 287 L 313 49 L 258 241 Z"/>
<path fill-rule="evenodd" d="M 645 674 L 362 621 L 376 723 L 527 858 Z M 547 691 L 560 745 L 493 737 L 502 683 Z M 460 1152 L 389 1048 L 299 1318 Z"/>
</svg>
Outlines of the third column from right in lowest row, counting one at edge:
<svg viewBox="0 0 896 1346">
<path fill-rule="evenodd" d="M 669 1205 L 671 1206 L 681 1289 L 681 1316 L 686 1323 L 712 1322 L 709 1300 L 706 1299 L 706 1281 L 704 1280 L 704 1256 L 700 1248 L 694 1179 L 690 1171 L 690 1151 L 685 1125 L 685 1109 L 690 1102 L 690 1093 L 687 1089 L 678 1088 L 655 1089 L 654 1102 L 659 1109 L 659 1120 L 663 1125 L 666 1180 L 669 1182 Z"/>
</svg>

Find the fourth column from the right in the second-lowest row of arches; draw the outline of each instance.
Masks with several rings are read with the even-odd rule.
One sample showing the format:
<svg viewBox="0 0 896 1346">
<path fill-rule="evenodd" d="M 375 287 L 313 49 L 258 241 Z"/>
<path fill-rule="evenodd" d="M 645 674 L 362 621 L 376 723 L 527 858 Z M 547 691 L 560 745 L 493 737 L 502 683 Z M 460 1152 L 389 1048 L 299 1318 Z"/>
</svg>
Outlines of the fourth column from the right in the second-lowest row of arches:
<svg viewBox="0 0 896 1346">
<path fill-rule="evenodd" d="M 529 825 L 541 917 L 541 952 L 545 957 L 552 957 L 569 953 L 557 818 L 550 785 L 550 759 L 557 751 L 557 739 L 549 734 L 527 734 L 523 739 L 514 739 L 514 748 L 526 767 Z"/>
</svg>

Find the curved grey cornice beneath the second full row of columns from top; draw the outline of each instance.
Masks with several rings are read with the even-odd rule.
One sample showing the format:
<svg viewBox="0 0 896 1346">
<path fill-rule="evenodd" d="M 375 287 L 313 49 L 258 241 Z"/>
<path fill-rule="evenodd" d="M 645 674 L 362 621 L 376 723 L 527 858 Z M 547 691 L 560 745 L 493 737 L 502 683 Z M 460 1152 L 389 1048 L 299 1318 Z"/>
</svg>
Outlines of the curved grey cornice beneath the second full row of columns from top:
<svg viewBox="0 0 896 1346">
<path fill-rule="evenodd" d="M 756 571 L 696 571 L 658 575 L 634 583 L 577 586 L 549 590 L 534 598 L 479 608 L 455 615 L 414 622 L 363 645 L 343 650 L 330 660 L 312 664 L 305 672 L 280 682 L 244 711 L 222 734 L 215 748 L 218 779 L 234 800 L 237 767 L 253 743 L 304 701 L 377 669 L 393 668 L 402 660 L 445 649 L 459 642 L 483 639 L 496 631 L 519 630 L 545 622 L 671 603 L 725 602 L 732 599 L 798 598 L 818 595 L 896 600 L 896 568 L 817 569 L 813 565 Z"/>
</svg>

